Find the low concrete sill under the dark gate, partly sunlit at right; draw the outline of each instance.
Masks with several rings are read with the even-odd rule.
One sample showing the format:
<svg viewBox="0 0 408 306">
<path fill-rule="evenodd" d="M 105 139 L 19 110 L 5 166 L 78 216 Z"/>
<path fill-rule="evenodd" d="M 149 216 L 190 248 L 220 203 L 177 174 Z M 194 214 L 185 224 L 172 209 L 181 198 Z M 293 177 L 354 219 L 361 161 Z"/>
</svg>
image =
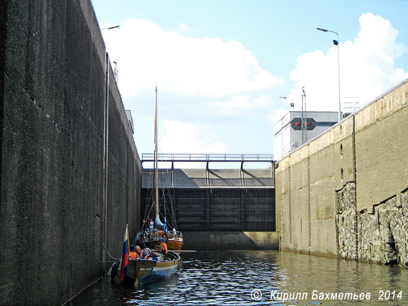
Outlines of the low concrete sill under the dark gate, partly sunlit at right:
<svg viewBox="0 0 408 306">
<path fill-rule="evenodd" d="M 185 232 L 185 250 L 277 250 L 277 232 Z"/>
</svg>

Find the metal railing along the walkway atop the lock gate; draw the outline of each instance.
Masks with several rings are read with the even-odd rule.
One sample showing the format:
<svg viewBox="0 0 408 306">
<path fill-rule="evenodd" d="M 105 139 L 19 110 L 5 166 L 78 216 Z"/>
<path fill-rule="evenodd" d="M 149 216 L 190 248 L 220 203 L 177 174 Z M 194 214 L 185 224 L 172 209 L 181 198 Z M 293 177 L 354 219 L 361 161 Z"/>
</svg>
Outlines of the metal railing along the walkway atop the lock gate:
<svg viewBox="0 0 408 306">
<path fill-rule="evenodd" d="M 273 162 L 273 154 L 173 154 L 159 153 L 159 162 Z M 143 162 L 153 162 L 153 153 L 143 153 Z"/>
</svg>

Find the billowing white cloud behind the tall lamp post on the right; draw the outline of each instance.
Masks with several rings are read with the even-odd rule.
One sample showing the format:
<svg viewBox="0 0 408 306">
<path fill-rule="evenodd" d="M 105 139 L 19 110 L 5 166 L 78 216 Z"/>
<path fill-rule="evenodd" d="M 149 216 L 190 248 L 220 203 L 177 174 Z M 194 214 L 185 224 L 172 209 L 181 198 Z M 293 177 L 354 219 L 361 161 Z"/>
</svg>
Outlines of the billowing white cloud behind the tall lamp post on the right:
<svg viewBox="0 0 408 306">
<path fill-rule="evenodd" d="M 360 107 L 408 77 L 394 60 L 407 48 L 396 42 L 398 30 L 390 21 L 371 13 L 360 17 L 361 31 L 354 42 L 340 43 L 340 90 L 344 97 L 359 97 Z M 325 34 L 328 35 L 328 34 Z M 296 82 L 296 110 L 300 110 L 299 88 L 305 87 L 308 111 L 337 111 L 339 105 L 338 50 L 329 48 L 304 54 L 297 59 L 290 79 Z"/>
</svg>

